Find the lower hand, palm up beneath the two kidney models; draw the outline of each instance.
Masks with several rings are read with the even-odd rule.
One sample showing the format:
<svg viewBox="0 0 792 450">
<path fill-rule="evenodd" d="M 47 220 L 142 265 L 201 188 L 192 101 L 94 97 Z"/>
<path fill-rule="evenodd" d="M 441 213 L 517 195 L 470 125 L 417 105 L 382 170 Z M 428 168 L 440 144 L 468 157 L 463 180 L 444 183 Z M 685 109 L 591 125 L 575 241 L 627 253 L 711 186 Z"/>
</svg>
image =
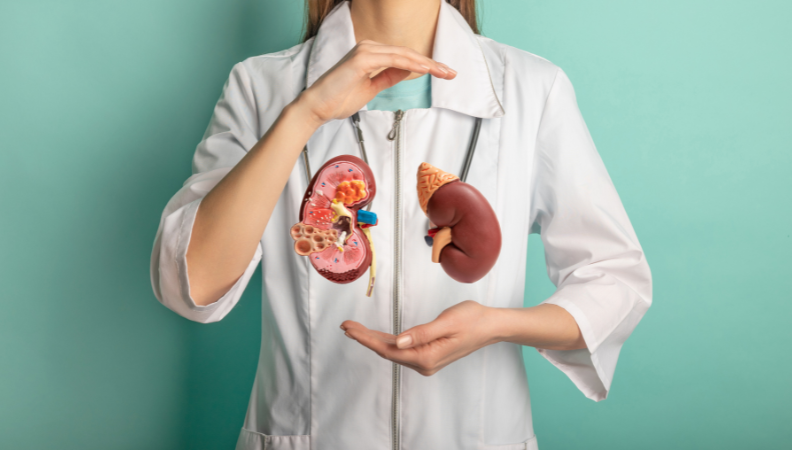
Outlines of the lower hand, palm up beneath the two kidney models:
<svg viewBox="0 0 792 450">
<path fill-rule="evenodd" d="M 379 356 L 430 376 L 499 341 L 493 311 L 467 300 L 446 309 L 432 322 L 410 328 L 399 336 L 369 330 L 351 320 L 341 324 L 341 329 Z"/>
</svg>

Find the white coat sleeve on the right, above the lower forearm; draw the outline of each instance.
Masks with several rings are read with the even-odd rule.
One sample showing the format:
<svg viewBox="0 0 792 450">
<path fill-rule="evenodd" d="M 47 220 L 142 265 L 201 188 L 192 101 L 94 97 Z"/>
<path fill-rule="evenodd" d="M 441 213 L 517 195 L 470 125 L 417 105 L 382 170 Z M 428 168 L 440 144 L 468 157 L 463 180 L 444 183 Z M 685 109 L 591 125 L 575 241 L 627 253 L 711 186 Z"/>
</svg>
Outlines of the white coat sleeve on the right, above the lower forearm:
<svg viewBox="0 0 792 450">
<path fill-rule="evenodd" d="M 542 303 L 569 312 L 587 345 L 539 353 L 600 401 L 610 390 L 622 345 L 651 305 L 652 278 L 561 70 L 539 125 L 532 184 L 531 232 L 541 236 L 557 288 Z"/>
</svg>

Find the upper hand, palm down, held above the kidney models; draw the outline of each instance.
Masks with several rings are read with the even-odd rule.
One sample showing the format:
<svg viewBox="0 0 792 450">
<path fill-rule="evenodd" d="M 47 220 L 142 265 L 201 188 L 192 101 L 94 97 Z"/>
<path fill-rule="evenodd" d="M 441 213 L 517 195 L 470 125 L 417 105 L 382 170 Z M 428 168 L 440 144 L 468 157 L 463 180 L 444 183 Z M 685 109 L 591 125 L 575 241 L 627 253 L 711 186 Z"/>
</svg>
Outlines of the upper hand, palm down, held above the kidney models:
<svg viewBox="0 0 792 450">
<path fill-rule="evenodd" d="M 384 70 L 383 70 L 384 69 Z M 360 41 L 295 100 L 317 126 L 345 119 L 410 72 L 451 80 L 456 71 L 413 49 Z"/>
</svg>

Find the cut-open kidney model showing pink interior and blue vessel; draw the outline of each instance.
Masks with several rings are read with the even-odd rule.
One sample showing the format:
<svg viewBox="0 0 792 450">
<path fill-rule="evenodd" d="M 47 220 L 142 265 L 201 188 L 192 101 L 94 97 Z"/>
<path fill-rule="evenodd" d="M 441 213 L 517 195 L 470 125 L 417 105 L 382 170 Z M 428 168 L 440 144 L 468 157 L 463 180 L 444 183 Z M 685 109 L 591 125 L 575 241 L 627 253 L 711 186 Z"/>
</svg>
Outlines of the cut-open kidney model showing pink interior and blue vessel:
<svg viewBox="0 0 792 450">
<path fill-rule="evenodd" d="M 309 257 L 328 280 L 351 283 L 370 267 L 369 297 L 377 266 L 368 228 L 377 224 L 377 216 L 363 208 L 376 192 L 368 164 L 352 155 L 335 157 L 311 179 L 300 205 L 300 222 L 291 227 L 294 251 Z"/>
</svg>

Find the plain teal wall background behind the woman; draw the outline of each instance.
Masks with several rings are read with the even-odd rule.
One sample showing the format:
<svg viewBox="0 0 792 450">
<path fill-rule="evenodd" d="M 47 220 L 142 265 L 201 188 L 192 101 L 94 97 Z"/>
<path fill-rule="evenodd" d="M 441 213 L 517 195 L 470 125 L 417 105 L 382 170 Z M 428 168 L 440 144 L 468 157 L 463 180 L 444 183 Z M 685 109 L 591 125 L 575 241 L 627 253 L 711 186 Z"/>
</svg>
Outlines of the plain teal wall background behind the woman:
<svg viewBox="0 0 792 450">
<path fill-rule="evenodd" d="M 654 275 L 606 401 L 526 349 L 542 450 L 789 448 L 792 3 L 481 10 L 485 35 L 569 74 Z M 155 300 L 149 256 L 231 66 L 297 43 L 301 17 L 0 0 L 0 447 L 233 448 L 260 281 L 194 324 Z M 528 280 L 527 305 L 553 292 L 535 235 Z"/>
</svg>

